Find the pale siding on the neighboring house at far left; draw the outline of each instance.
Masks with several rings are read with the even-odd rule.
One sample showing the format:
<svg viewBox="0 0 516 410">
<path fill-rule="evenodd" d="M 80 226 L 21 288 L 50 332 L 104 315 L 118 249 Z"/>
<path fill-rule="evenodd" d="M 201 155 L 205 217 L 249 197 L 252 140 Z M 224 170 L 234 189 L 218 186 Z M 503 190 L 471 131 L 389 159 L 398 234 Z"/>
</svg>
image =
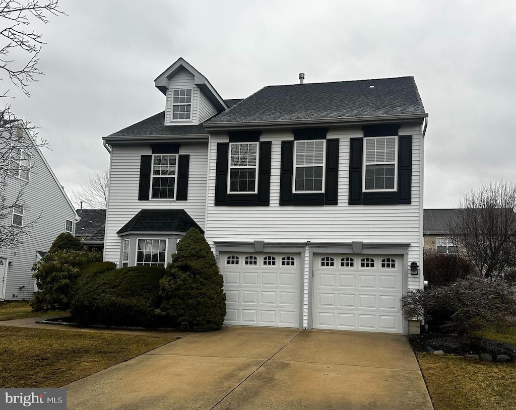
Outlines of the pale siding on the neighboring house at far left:
<svg viewBox="0 0 516 410">
<path fill-rule="evenodd" d="M 33 167 L 29 181 L 14 176 L 7 178 L 5 195 L 7 203 L 13 203 L 24 186 L 23 221 L 36 221 L 30 229 L 30 236 L 16 248 L 0 251 L 0 258 L 7 258 L 12 264 L 7 269 L 5 300 L 27 300 L 34 294 L 34 279 L 31 271 L 36 262 L 36 252 L 47 252 L 57 235 L 63 232 L 65 219 L 75 221 L 75 212 L 63 194 L 38 149 L 31 151 Z M 11 217 L 11 216 L 9 216 Z M 13 297 L 14 295 L 14 297 Z M 1 298 L 1 295 L 0 295 Z"/>
</svg>

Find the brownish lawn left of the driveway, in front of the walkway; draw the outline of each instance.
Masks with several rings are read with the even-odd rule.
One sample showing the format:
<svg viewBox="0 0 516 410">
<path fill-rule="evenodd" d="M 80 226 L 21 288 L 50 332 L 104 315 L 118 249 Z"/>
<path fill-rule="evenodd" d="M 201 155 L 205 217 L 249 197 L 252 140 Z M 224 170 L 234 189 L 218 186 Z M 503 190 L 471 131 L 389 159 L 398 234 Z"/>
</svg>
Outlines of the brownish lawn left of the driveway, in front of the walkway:
<svg viewBox="0 0 516 410">
<path fill-rule="evenodd" d="M 176 339 L 0 326 L 0 388 L 61 387 Z"/>
</svg>

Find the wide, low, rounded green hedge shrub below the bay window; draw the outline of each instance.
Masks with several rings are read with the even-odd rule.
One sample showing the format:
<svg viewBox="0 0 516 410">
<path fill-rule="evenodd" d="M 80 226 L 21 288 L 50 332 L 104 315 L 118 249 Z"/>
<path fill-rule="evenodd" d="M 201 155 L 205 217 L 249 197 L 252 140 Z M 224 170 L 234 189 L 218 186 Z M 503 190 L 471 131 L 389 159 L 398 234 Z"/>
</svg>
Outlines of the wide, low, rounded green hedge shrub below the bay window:
<svg viewBox="0 0 516 410">
<path fill-rule="evenodd" d="M 159 316 L 159 281 L 165 268 L 134 266 L 107 270 L 91 266 L 76 283 L 70 313 L 79 325 L 155 327 Z"/>
</svg>

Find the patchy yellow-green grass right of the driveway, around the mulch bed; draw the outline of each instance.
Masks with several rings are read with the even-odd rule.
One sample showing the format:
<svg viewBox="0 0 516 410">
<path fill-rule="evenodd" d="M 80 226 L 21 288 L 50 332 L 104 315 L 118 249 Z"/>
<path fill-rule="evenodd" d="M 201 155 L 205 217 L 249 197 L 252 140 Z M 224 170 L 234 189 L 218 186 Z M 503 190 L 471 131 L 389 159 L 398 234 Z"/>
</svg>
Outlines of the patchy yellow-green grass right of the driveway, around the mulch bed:
<svg viewBox="0 0 516 410">
<path fill-rule="evenodd" d="M 475 332 L 516 346 L 516 327 L 488 325 Z M 516 409 L 516 363 L 416 353 L 435 410 Z"/>
</svg>

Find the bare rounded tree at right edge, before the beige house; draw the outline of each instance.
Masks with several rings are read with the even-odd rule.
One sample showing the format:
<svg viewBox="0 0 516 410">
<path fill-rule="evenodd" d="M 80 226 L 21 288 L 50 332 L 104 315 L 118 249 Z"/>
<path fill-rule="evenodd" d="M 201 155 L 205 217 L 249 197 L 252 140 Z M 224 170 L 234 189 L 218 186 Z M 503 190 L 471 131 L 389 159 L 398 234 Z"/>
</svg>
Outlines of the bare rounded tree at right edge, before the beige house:
<svg viewBox="0 0 516 410">
<path fill-rule="evenodd" d="M 516 270 L 516 184 L 496 182 L 472 190 L 459 203 L 450 233 L 487 278 Z"/>
</svg>

